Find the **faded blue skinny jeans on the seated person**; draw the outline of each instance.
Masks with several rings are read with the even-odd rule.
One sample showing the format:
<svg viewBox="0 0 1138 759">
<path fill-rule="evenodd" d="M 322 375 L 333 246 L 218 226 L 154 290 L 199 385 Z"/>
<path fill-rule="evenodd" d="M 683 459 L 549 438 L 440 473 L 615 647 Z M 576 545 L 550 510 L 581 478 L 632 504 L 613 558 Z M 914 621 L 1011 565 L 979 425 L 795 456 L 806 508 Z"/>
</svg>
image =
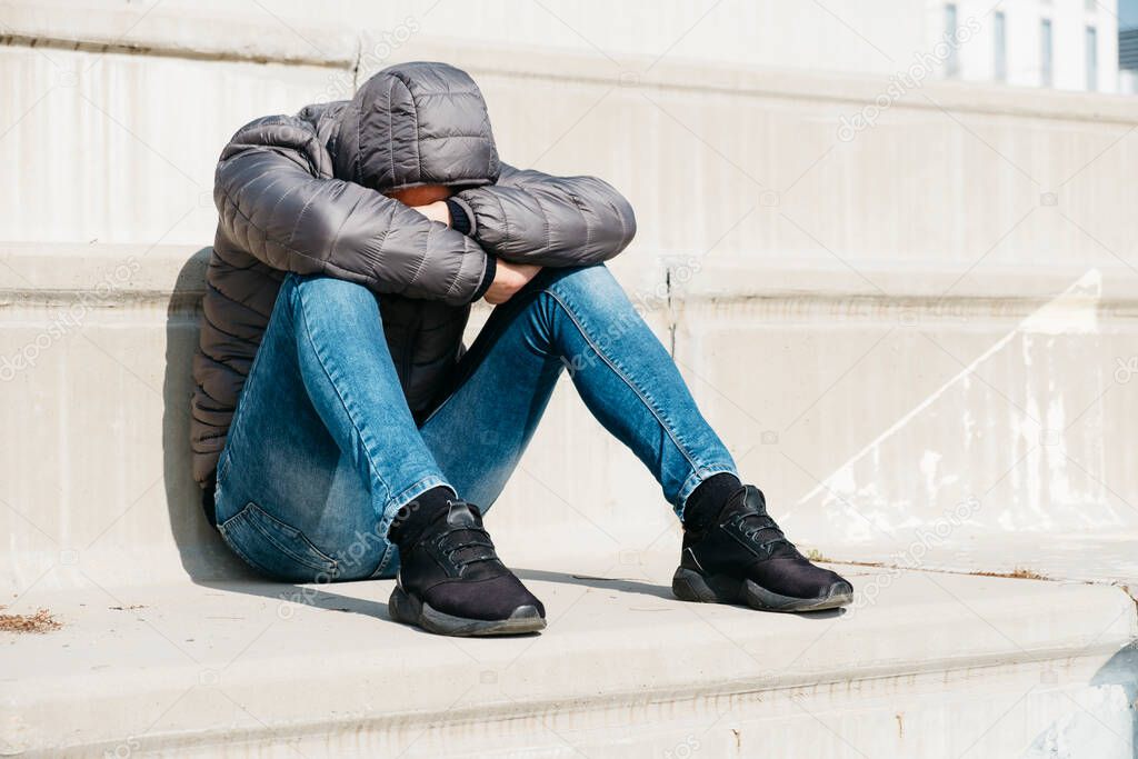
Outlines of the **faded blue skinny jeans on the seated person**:
<svg viewBox="0 0 1138 759">
<path fill-rule="evenodd" d="M 401 506 L 447 486 L 484 511 L 568 370 L 594 416 L 683 515 L 735 472 L 683 378 L 603 265 L 543 270 L 494 310 L 421 424 L 407 409 L 376 295 L 290 274 L 217 468 L 217 526 L 262 572 L 290 581 L 391 577 Z"/>
</svg>

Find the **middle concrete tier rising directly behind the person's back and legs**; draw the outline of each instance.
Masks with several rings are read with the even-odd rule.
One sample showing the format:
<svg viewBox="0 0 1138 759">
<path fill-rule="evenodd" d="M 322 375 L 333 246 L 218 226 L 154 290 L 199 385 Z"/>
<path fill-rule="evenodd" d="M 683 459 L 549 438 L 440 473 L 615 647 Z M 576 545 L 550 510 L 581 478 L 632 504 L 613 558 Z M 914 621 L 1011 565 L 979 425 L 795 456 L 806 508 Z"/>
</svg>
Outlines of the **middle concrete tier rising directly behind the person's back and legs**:
<svg viewBox="0 0 1138 759">
<path fill-rule="evenodd" d="M 63 562 L 107 586 L 241 576 L 189 470 L 207 254 L 0 245 L 6 586 L 61 581 L 46 572 Z M 1090 284 L 1081 266 L 992 270 L 949 298 L 951 270 L 863 270 L 884 296 L 828 256 L 613 263 L 797 542 L 834 559 L 920 550 L 901 566 L 1107 581 L 1136 576 L 1119 537 L 1138 530 L 1125 423 L 1138 382 L 1115 374 L 1138 331 L 1138 278 L 1119 269 Z M 123 444 L 92 445 L 108 434 Z M 677 538 L 655 484 L 567 382 L 492 513 L 525 560 L 567 535 L 613 560 Z M 993 550 L 970 548 L 981 544 Z M 1065 569 L 1038 568 L 1053 544 Z"/>
</svg>

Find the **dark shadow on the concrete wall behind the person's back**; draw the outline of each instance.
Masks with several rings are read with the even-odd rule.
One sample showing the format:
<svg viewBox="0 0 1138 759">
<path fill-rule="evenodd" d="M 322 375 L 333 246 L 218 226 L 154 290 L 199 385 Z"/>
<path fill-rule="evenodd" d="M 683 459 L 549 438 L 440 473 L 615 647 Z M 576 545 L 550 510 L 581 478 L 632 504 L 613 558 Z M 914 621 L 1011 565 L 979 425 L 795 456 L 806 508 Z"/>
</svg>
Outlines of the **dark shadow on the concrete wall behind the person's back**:
<svg viewBox="0 0 1138 759">
<path fill-rule="evenodd" d="M 166 373 L 162 383 L 163 472 L 170 526 L 182 567 L 198 584 L 251 579 L 201 510 L 201 488 L 193 480 L 190 456 L 192 361 L 198 345 L 198 320 L 205 292 L 211 248 L 201 248 L 182 266 L 166 310 Z"/>
</svg>

